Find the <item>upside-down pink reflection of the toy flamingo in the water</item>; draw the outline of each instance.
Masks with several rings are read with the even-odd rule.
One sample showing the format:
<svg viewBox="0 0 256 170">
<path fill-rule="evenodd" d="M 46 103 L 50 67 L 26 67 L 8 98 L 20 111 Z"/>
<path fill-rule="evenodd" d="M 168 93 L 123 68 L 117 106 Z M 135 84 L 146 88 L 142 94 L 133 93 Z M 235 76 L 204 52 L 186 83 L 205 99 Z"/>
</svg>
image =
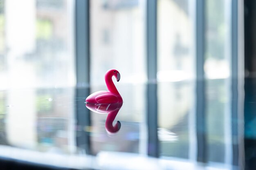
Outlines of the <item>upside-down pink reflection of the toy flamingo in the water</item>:
<svg viewBox="0 0 256 170">
<path fill-rule="evenodd" d="M 112 103 L 112 104 L 86 104 L 86 107 L 89 110 L 92 110 L 95 113 L 108 113 L 108 117 L 106 119 L 105 128 L 107 132 L 112 135 L 114 133 L 117 133 L 121 128 L 120 121 L 117 121 L 115 126 L 113 126 L 113 121 L 115 120 L 115 117 L 117 116 L 117 113 L 119 112 L 120 108 L 122 107 L 123 103 Z"/>
</svg>

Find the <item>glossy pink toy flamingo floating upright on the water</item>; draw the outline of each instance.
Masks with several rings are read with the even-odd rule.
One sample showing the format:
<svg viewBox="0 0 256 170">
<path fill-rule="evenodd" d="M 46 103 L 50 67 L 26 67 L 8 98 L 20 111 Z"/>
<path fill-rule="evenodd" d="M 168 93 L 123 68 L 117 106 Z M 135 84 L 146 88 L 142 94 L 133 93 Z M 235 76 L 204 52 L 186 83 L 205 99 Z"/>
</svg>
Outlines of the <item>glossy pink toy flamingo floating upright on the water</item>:
<svg viewBox="0 0 256 170">
<path fill-rule="evenodd" d="M 123 102 L 121 95 L 117 91 L 117 88 L 112 81 L 113 76 L 115 76 L 117 79 L 117 82 L 119 82 L 120 73 L 115 69 L 108 70 L 105 74 L 105 82 L 106 82 L 108 91 L 97 91 L 95 93 L 92 93 L 90 96 L 88 96 L 85 99 L 86 104 L 88 103 L 110 104 L 110 103 Z"/>
</svg>

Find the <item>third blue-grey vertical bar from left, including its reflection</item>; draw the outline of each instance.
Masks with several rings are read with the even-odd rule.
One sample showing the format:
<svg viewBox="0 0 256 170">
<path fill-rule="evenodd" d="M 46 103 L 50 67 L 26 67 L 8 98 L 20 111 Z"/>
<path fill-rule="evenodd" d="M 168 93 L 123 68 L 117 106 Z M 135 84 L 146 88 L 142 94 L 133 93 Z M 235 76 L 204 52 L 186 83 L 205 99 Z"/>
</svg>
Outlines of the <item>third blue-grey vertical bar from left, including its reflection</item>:
<svg viewBox="0 0 256 170">
<path fill-rule="evenodd" d="M 206 119 L 205 119 L 205 81 L 204 81 L 204 44 L 205 44 L 205 4 L 204 0 L 196 1 L 196 130 L 197 160 L 207 161 Z"/>
</svg>

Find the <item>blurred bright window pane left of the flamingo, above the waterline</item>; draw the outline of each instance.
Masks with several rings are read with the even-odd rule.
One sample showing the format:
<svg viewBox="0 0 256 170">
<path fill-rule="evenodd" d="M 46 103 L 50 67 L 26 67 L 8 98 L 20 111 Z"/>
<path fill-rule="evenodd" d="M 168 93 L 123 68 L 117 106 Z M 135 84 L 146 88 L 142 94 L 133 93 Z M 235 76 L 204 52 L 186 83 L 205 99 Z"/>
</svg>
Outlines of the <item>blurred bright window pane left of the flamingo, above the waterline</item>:
<svg viewBox="0 0 256 170">
<path fill-rule="evenodd" d="M 68 0 L 4 1 L 2 88 L 74 85 L 71 4 Z"/>
</svg>

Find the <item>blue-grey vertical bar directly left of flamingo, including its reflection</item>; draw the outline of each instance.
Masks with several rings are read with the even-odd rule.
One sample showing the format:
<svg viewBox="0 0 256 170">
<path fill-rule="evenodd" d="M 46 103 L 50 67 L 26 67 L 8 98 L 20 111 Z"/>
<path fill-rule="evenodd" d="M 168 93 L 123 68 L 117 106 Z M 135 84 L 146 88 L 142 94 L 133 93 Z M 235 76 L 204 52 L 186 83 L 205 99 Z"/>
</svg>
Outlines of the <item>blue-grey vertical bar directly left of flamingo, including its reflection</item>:
<svg viewBox="0 0 256 170">
<path fill-rule="evenodd" d="M 76 144 L 90 154 L 90 111 L 85 107 L 89 95 L 90 73 L 90 13 L 89 0 L 76 0 Z"/>
</svg>

